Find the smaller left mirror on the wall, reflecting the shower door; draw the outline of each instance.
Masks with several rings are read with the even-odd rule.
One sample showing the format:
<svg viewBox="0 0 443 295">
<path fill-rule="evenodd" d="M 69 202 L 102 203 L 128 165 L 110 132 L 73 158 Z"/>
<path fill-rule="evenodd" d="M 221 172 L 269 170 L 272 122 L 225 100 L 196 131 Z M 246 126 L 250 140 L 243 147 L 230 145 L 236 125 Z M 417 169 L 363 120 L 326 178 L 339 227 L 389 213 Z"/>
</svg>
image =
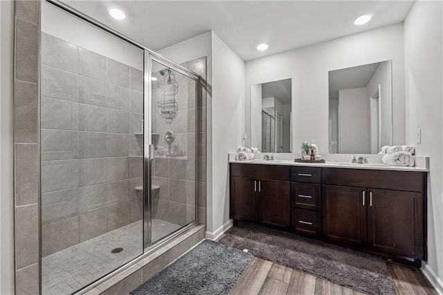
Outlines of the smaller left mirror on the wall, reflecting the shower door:
<svg viewBox="0 0 443 295">
<path fill-rule="evenodd" d="M 291 79 L 251 85 L 251 146 L 291 152 Z"/>
</svg>

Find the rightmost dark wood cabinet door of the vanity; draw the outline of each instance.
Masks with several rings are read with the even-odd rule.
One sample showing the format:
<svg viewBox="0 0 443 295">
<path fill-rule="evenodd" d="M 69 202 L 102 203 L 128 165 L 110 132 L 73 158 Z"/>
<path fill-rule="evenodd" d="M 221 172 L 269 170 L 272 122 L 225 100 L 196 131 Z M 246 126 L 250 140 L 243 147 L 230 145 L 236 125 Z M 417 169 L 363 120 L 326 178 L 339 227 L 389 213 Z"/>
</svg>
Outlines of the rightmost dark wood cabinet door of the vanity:
<svg viewBox="0 0 443 295">
<path fill-rule="evenodd" d="M 368 243 L 374 249 L 419 258 L 423 251 L 420 193 L 368 189 Z"/>
</svg>

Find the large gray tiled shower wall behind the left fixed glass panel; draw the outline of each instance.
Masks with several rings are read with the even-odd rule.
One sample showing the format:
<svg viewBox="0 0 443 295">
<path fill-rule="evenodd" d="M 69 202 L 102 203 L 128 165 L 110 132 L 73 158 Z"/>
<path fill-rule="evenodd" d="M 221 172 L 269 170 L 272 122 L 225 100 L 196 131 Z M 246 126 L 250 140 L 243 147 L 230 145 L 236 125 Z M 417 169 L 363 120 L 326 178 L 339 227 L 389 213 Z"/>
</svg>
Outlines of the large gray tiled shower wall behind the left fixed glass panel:
<svg viewBox="0 0 443 295">
<path fill-rule="evenodd" d="M 47 256 L 141 219 L 143 72 L 42 33 L 41 80 Z"/>
</svg>

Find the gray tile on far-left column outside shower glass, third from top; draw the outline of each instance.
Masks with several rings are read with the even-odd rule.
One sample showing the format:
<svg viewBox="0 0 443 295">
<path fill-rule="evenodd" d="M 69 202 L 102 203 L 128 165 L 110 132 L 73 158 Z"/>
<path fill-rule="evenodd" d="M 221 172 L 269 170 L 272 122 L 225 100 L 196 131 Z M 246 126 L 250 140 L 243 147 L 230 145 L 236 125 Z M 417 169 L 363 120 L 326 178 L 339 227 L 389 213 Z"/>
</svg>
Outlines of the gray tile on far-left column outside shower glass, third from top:
<svg viewBox="0 0 443 295">
<path fill-rule="evenodd" d="M 14 138 L 16 143 L 37 143 L 37 84 L 15 80 Z"/>
</svg>

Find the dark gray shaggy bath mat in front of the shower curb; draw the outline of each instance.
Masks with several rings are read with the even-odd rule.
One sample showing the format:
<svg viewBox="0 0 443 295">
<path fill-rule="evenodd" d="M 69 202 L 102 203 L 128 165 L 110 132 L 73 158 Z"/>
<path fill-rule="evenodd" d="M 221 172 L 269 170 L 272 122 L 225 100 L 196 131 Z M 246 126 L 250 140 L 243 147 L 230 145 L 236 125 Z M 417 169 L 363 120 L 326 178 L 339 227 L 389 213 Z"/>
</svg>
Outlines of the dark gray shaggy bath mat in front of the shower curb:
<svg viewBox="0 0 443 295">
<path fill-rule="evenodd" d="M 249 253 L 205 240 L 130 294 L 228 294 L 252 260 Z"/>
</svg>

